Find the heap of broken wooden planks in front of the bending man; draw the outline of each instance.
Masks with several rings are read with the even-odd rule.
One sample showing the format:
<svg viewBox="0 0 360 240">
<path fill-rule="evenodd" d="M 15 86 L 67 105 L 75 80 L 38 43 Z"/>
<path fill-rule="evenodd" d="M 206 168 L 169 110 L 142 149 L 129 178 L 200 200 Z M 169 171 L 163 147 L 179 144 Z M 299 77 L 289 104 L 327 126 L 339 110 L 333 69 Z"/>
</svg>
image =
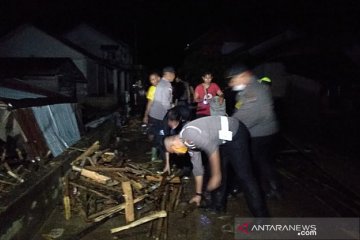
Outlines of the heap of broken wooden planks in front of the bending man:
<svg viewBox="0 0 360 240">
<path fill-rule="evenodd" d="M 101 222 L 124 210 L 126 225 L 111 233 L 151 221 L 149 237 L 167 239 L 167 215 L 183 190 L 180 171 L 155 172 L 149 170 L 151 163 L 134 163 L 117 150 L 99 149 L 99 142 L 77 149 L 83 153 L 63 177 L 65 218 L 77 211 L 87 222 Z"/>
</svg>

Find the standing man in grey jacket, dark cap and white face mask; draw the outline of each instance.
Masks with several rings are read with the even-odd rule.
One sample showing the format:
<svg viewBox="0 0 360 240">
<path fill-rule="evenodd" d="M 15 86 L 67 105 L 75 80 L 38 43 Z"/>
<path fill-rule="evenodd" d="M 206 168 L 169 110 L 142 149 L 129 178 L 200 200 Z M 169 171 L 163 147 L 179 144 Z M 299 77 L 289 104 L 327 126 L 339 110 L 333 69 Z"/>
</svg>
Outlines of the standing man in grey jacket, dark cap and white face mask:
<svg viewBox="0 0 360 240">
<path fill-rule="evenodd" d="M 230 79 L 229 86 L 237 91 L 232 117 L 249 129 L 252 157 L 264 191 L 269 198 L 280 198 L 274 163 L 279 128 L 270 88 L 261 84 L 242 64 L 233 65 L 225 77 Z"/>
</svg>

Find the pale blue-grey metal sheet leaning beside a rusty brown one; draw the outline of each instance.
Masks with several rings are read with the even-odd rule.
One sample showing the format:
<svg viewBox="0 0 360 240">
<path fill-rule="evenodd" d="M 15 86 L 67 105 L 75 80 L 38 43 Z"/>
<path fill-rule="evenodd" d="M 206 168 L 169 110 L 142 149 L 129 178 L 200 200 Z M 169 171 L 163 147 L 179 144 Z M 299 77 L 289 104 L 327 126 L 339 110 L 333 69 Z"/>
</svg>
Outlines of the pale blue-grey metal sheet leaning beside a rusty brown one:
<svg viewBox="0 0 360 240">
<path fill-rule="evenodd" d="M 54 157 L 80 139 L 75 112 L 70 103 L 31 109 Z"/>
</svg>

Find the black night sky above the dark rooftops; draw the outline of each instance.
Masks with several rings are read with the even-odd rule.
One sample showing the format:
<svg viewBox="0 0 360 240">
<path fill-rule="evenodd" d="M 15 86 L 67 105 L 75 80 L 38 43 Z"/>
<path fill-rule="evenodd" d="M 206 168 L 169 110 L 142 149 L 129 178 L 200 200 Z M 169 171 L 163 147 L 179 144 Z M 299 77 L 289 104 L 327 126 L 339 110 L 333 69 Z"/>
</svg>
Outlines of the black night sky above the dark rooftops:
<svg viewBox="0 0 360 240">
<path fill-rule="evenodd" d="M 4 32 L 34 22 L 53 32 L 89 22 L 134 46 L 145 65 L 179 65 L 184 47 L 206 31 L 231 27 L 244 39 L 286 29 L 359 37 L 359 1 L 335 0 L 13 0 L 1 1 Z"/>
</svg>

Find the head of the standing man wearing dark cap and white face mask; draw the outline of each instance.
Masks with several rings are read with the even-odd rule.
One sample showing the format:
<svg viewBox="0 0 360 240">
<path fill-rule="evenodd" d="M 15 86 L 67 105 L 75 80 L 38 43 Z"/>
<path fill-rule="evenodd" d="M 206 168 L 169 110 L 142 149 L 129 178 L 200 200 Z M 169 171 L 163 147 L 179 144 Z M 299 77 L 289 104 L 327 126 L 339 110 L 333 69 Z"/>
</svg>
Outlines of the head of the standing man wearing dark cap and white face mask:
<svg viewBox="0 0 360 240">
<path fill-rule="evenodd" d="M 231 66 L 225 73 L 225 78 L 229 79 L 228 85 L 233 90 L 242 90 L 250 82 L 252 73 L 249 68 L 243 64 Z"/>
</svg>

